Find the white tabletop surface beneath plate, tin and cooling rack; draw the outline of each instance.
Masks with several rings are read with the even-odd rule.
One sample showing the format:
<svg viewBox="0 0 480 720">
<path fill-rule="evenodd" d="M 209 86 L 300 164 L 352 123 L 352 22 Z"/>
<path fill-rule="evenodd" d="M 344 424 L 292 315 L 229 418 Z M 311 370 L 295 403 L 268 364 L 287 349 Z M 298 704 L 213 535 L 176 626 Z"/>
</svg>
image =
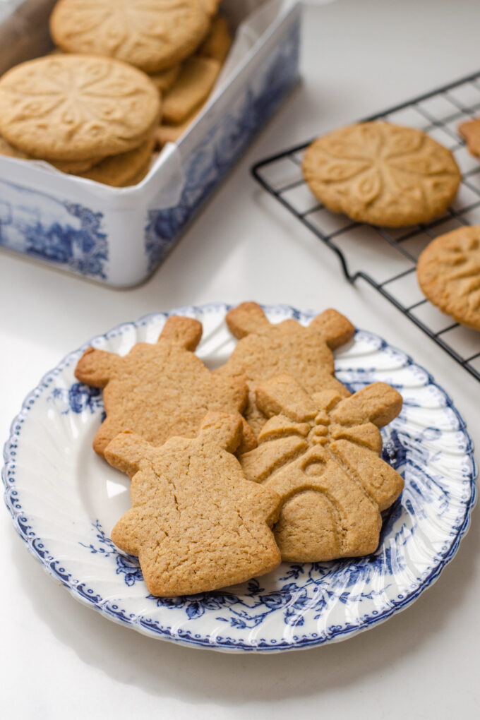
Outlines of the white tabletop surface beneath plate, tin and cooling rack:
<svg viewBox="0 0 480 720">
<path fill-rule="evenodd" d="M 268 154 L 480 67 L 472 0 L 338 0 L 304 13 L 303 82 L 149 282 L 114 291 L 0 258 L 0 431 L 73 348 L 117 323 L 212 300 L 332 305 L 412 354 L 480 446 L 480 385 L 250 179 Z M 150 639 L 76 603 L 30 556 L 6 511 L 0 714 L 35 720 L 480 716 L 480 525 L 417 602 L 353 639 L 302 652 L 219 654 Z"/>
</svg>

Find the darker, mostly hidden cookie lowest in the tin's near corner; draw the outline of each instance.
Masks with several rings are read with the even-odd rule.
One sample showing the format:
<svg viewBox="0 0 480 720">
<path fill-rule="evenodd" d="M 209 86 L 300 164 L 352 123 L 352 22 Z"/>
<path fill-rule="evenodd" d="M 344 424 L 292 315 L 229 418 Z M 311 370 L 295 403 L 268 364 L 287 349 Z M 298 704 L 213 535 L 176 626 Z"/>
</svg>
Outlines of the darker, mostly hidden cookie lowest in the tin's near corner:
<svg viewBox="0 0 480 720">
<path fill-rule="evenodd" d="M 138 148 L 121 155 L 109 156 L 90 170 L 77 174 L 83 178 L 113 187 L 129 185 L 143 171 L 145 166 L 149 165 L 154 143 L 155 140 L 151 137 L 145 143 L 139 145 Z"/>
</svg>

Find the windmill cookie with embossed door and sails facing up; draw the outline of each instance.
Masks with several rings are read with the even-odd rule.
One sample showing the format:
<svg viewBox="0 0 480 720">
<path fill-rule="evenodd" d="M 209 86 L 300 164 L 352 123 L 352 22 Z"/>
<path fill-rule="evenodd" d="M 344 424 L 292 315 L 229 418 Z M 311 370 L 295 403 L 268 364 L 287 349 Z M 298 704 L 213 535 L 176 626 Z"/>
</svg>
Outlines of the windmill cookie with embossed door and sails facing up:
<svg viewBox="0 0 480 720">
<path fill-rule="evenodd" d="M 384 462 L 379 427 L 393 420 L 402 397 L 375 382 L 342 399 L 312 396 L 289 375 L 260 385 L 257 404 L 270 420 L 258 447 L 240 455 L 245 477 L 281 496 L 273 528 L 288 562 L 321 562 L 374 552 L 380 510 L 397 499 L 402 477 Z"/>
</svg>

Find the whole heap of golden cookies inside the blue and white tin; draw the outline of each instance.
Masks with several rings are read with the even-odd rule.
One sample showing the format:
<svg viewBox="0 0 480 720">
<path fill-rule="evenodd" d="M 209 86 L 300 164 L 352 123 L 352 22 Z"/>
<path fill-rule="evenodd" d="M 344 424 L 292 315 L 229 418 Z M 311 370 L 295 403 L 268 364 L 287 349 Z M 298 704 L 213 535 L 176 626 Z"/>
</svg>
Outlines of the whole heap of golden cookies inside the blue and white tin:
<svg viewBox="0 0 480 720">
<path fill-rule="evenodd" d="M 57 49 L 0 78 L 0 153 L 112 186 L 199 112 L 230 48 L 217 0 L 59 0 Z"/>
</svg>

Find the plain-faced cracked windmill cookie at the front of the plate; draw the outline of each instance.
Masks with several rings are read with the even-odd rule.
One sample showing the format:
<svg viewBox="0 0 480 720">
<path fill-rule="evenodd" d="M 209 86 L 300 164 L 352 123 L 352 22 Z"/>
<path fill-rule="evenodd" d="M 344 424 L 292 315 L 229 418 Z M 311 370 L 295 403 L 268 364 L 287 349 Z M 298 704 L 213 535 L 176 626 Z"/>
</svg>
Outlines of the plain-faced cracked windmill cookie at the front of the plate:
<svg viewBox="0 0 480 720">
<path fill-rule="evenodd" d="M 238 416 L 208 413 L 196 438 L 155 447 L 134 433 L 114 438 L 105 457 L 132 477 L 132 508 L 112 531 L 137 555 L 153 595 L 190 595 L 270 572 L 281 562 L 271 526 L 276 492 L 245 480 L 232 455 Z"/>
</svg>

